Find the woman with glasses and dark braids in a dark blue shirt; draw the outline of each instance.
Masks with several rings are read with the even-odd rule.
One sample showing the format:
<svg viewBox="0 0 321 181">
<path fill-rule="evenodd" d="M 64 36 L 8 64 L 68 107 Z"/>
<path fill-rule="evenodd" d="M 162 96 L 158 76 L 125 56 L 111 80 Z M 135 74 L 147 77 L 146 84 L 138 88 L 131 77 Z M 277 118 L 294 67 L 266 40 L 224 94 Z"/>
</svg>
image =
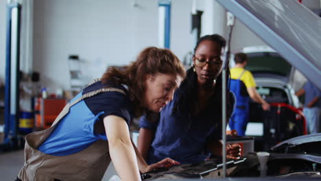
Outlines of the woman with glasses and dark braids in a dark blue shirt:
<svg viewBox="0 0 321 181">
<path fill-rule="evenodd" d="M 194 49 L 193 66 L 173 101 L 158 117 L 141 117 L 138 148 L 147 162 L 170 157 L 189 164 L 202 162 L 210 154 L 222 156 L 221 55 L 225 45 L 226 40 L 218 34 L 200 38 Z M 226 102 L 230 116 L 235 104 L 233 93 L 227 94 Z M 226 148 L 228 158 L 239 157 L 239 145 Z"/>
</svg>

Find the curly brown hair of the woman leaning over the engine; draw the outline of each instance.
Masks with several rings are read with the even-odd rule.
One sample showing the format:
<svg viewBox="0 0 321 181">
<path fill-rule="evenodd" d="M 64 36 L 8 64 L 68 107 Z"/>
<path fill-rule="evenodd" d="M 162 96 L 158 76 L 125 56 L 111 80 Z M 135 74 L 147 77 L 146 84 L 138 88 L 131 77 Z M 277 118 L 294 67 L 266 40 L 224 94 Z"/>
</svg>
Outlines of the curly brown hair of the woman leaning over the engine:
<svg viewBox="0 0 321 181">
<path fill-rule="evenodd" d="M 147 47 L 143 49 L 136 61 L 126 67 L 108 67 L 102 76 L 106 84 L 126 84 L 130 90 L 130 99 L 133 101 L 135 116 L 143 113 L 141 97 L 145 97 L 145 79 L 147 75 L 164 73 L 185 77 L 185 68 L 180 60 L 169 49 Z"/>
</svg>

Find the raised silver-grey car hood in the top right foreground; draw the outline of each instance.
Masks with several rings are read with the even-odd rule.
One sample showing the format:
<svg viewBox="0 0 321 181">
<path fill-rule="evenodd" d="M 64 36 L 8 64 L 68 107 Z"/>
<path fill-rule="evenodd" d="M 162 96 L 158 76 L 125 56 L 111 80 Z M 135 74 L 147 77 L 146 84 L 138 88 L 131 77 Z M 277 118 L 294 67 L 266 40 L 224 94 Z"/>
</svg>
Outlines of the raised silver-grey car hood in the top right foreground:
<svg viewBox="0 0 321 181">
<path fill-rule="evenodd" d="M 321 19 L 296 0 L 216 0 L 321 89 Z"/>
</svg>

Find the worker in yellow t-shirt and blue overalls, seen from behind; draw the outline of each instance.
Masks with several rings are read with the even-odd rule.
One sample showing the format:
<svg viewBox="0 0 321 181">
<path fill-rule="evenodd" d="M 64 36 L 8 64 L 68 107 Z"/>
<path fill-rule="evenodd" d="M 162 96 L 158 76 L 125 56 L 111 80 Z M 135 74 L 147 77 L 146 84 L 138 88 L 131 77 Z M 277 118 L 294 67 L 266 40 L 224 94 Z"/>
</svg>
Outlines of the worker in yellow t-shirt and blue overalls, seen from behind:
<svg viewBox="0 0 321 181">
<path fill-rule="evenodd" d="M 255 84 L 252 73 L 244 69 L 248 63 L 246 53 L 235 54 L 234 60 L 235 67 L 230 69 L 230 90 L 235 94 L 237 102 L 228 125 L 230 130 L 237 131 L 238 136 L 245 136 L 250 98 L 261 104 L 263 110 L 270 110 L 270 104 L 257 93 L 255 88 L 257 84 Z"/>
</svg>

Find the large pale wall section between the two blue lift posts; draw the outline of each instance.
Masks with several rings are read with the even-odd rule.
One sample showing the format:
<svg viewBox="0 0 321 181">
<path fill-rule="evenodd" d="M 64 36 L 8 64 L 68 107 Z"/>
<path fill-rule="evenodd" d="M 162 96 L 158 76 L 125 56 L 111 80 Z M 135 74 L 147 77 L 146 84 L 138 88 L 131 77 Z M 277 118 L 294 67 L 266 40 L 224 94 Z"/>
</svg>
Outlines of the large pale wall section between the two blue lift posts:
<svg viewBox="0 0 321 181">
<path fill-rule="evenodd" d="M 35 0 L 34 71 L 54 92 L 69 88 L 70 54 L 80 56 L 88 80 L 128 64 L 143 47 L 157 45 L 156 8 L 148 0 L 139 8 L 129 0 Z"/>
</svg>

